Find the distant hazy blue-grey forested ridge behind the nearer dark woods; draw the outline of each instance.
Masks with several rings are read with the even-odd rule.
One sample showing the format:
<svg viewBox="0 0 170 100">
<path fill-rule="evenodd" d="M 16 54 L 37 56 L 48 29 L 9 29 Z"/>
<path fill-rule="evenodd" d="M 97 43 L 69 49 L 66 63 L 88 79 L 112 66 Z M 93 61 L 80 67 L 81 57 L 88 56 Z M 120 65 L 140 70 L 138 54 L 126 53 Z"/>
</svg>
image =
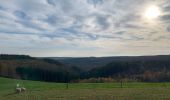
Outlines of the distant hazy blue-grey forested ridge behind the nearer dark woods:
<svg viewBox="0 0 170 100">
<path fill-rule="evenodd" d="M 102 67 L 111 62 L 129 61 L 170 61 L 170 55 L 156 56 L 120 56 L 120 57 L 48 57 L 71 66 L 87 69 Z"/>
</svg>

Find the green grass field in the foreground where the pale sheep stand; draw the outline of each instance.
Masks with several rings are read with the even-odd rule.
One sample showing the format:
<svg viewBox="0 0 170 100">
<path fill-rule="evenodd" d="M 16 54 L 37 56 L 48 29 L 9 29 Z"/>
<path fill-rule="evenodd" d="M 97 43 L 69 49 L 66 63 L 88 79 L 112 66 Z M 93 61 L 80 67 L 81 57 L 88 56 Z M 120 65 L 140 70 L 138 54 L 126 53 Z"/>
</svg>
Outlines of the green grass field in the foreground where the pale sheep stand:
<svg viewBox="0 0 170 100">
<path fill-rule="evenodd" d="M 19 83 L 25 93 L 14 94 Z M 170 83 L 46 83 L 0 78 L 0 100 L 169 100 Z"/>
</svg>

